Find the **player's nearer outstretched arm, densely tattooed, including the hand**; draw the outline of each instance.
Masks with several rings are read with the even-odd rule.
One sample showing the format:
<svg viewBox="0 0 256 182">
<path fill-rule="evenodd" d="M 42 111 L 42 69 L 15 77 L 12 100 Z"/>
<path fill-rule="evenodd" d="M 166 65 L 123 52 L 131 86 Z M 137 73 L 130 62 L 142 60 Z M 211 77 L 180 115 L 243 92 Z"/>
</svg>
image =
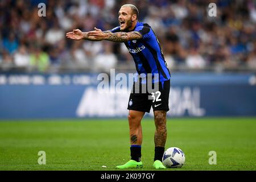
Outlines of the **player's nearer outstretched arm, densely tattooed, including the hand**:
<svg viewBox="0 0 256 182">
<path fill-rule="evenodd" d="M 137 40 L 142 38 L 142 34 L 133 32 L 116 32 L 112 33 L 110 31 L 102 32 L 98 28 L 94 28 L 95 31 L 90 31 L 87 33 L 89 36 L 93 36 L 97 40 L 109 40 L 113 42 L 127 42 L 128 40 Z"/>
</svg>

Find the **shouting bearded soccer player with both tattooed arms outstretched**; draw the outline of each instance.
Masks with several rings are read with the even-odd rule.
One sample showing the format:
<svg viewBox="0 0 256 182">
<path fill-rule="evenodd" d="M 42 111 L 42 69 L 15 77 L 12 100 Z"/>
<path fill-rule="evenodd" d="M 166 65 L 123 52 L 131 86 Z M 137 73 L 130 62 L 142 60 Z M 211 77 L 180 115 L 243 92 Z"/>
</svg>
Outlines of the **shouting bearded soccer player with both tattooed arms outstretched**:
<svg viewBox="0 0 256 182">
<path fill-rule="evenodd" d="M 154 31 L 148 24 L 138 21 L 139 12 L 137 7 L 128 4 L 123 5 L 118 15 L 120 26 L 110 31 L 103 32 L 98 28 L 94 28 L 94 31 L 82 32 L 76 29 L 72 32 L 68 32 L 66 36 L 73 40 L 109 40 L 125 43 L 131 56 L 133 56 L 138 77 L 134 82 L 127 107 L 127 109 L 129 109 L 128 121 L 130 128 L 131 160 L 116 168 L 127 169 L 143 167 L 141 161 L 141 120 L 146 112 L 150 112 L 152 106 L 156 127 L 153 166 L 155 169 L 164 169 L 162 156 L 167 138 L 166 112 L 169 110 L 168 100 L 171 75 Z M 143 88 L 143 84 L 148 84 L 147 75 L 151 75 L 153 78 L 157 77 L 158 90 L 152 93 L 148 93 L 148 90 L 146 93 L 142 92 L 143 90 L 139 90 L 139 93 L 137 93 L 135 85 L 138 84 L 139 88 Z M 154 82 L 154 80 L 151 79 L 151 82 Z"/>
</svg>

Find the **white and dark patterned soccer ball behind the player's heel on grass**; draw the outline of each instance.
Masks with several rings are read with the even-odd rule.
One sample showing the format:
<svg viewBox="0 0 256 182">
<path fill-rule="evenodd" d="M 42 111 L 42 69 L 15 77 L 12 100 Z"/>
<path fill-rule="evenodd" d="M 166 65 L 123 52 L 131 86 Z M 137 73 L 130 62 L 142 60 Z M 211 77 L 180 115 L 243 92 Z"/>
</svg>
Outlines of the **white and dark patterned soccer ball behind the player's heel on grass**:
<svg viewBox="0 0 256 182">
<path fill-rule="evenodd" d="M 171 147 L 164 152 L 162 161 L 168 168 L 181 168 L 185 163 L 185 154 L 180 148 Z"/>
</svg>

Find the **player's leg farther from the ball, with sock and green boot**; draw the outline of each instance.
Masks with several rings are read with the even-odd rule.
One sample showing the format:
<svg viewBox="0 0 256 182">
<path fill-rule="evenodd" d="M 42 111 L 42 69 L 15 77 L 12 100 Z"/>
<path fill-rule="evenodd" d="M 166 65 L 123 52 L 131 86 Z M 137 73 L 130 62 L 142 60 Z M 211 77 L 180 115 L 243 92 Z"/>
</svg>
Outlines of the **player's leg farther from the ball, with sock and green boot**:
<svg viewBox="0 0 256 182">
<path fill-rule="evenodd" d="M 131 160 L 123 164 L 122 166 L 117 166 L 118 169 L 126 168 L 142 168 L 143 164 L 141 162 L 141 144 L 142 144 L 142 127 L 141 119 L 143 118 L 145 112 L 129 110 L 128 121 L 130 128 L 130 143 L 131 143 Z"/>
</svg>

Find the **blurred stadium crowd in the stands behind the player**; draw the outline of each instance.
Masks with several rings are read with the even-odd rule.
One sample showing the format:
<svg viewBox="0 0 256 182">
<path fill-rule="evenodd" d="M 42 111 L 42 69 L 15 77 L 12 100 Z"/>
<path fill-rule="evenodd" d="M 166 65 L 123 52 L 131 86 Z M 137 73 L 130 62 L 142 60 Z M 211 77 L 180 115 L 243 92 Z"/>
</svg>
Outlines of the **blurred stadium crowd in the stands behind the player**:
<svg viewBox="0 0 256 182">
<path fill-rule="evenodd" d="M 46 17 L 39 17 L 39 3 Z M 208 15 L 216 3 L 217 16 Z M 73 41 L 65 33 L 118 26 L 125 3 L 150 24 L 172 70 L 256 70 L 256 1 L 253 0 L 1 0 L 0 69 L 60 72 L 134 68 L 124 44 Z"/>
</svg>

